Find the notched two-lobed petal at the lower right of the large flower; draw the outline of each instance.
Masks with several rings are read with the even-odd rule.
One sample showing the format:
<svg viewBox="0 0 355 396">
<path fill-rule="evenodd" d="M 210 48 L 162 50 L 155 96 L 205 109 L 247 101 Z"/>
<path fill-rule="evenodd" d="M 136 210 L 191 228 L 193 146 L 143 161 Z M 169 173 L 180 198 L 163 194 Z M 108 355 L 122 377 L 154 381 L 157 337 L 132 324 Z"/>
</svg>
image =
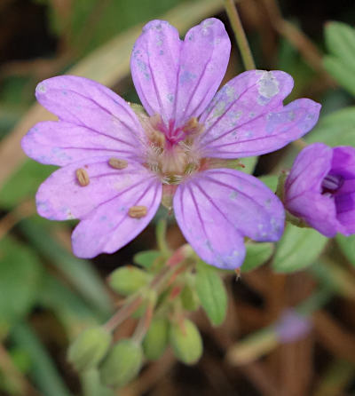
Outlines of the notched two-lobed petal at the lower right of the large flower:
<svg viewBox="0 0 355 396">
<path fill-rule="evenodd" d="M 243 236 L 277 241 L 284 210 L 272 191 L 238 170 L 206 170 L 177 187 L 177 223 L 193 249 L 210 265 L 237 268 L 244 260 Z"/>
</svg>

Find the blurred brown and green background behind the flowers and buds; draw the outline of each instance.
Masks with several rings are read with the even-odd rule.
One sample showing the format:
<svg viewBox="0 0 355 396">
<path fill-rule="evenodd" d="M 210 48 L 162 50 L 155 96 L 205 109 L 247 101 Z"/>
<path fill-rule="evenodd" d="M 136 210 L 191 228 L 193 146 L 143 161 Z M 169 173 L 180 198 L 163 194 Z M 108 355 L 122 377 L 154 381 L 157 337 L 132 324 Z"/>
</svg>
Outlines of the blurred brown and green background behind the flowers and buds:
<svg viewBox="0 0 355 396">
<path fill-rule="evenodd" d="M 332 41 L 330 33 L 325 38 L 329 20 L 354 24 L 353 0 L 237 4 L 256 67 L 293 75 L 296 84 L 289 99 L 308 97 L 322 104 L 324 121 L 309 141 L 354 145 L 355 33 L 335 32 L 339 41 Z M 67 345 L 114 312 L 119 297 L 107 288 L 107 275 L 133 263 L 137 252 L 155 247 L 153 223 L 114 255 L 81 260 L 70 248 L 75 222 L 50 222 L 36 215 L 36 189 L 55 169 L 29 160 L 20 148 L 31 126 L 52 118 L 35 103 L 36 84 L 53 75 L 83 75 L 138 102 L 129 62 L 143 24 L 169 20 L 183 35 L 210 16 L 225 22 L 233 43 L 227 81 L 243 66 L 222 1 L 0 0 L 0 395 L 108 394 L 69 367 Z M 336 59 L 350 67 L 346 73 L 339 63 L 332 64 Z M 296 150 L 264 155 L 254 174 L 279 174 L 291 165 Z M 273 187 L 275 179 L 269 178 Z M 184 243 L 173 221 L 168 242 L 172 248 Z M 132 384 L 110 394 L 355 395 L 354 243 L 341 237 L 317 240 L 316 245 L 300 242 L 282 250 L 284 259 L 296 263 L 292 268 L 271 265 L 271 251 L 259 257 L 258 265 L 264 265 L 242 270 L 238 281 L 226 276 L 224 324 L 214 328 L 203 313 L 192 316 L 205 345 L 200 362 L 186 367 L 168 350 Z M 312 249 L 317 251 L 308 257 L 306 250 Z M 280 253 L 278 257 L 280 262 Z M 298 271 L 300 267 L 304 270 Z M 322 297 L 324 285 L 332 290 L 330 297 Z M 309 311 L 312 329 L 288 343 L 270 337 L 268 326 L 304 301 L 315 302 Z M 130 335 L 133 324 L 126 321 L 115 337 Z"/>
</svg>

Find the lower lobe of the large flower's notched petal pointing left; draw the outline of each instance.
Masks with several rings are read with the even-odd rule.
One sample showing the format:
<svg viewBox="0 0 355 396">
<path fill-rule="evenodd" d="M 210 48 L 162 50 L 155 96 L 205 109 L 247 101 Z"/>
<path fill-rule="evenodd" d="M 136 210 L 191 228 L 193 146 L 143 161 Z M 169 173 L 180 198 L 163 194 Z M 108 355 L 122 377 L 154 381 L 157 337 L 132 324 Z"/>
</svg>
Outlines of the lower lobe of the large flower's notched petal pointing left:
<svg viewBox="0 0 355 396">
<path fill-rule="evenodd" d="M 136 145 L 65 121 L 37 123 L 21 141 L 30 158 L 42 163 L 64 166 L 103 155 L 141 161 Z"/>
</svg>

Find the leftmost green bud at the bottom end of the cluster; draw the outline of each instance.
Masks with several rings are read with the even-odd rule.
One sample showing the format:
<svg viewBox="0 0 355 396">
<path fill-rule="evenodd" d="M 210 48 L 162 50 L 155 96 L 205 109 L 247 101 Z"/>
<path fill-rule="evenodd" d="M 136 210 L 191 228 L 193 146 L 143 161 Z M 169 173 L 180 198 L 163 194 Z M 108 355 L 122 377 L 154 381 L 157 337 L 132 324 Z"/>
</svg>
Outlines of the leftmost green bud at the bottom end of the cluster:
<svg viewBox="0 0 355 396">
<path fill-rule="evenodd" d="M 97 366 L 111 344 L 111 334 L 101 327 L 86 329 L 70 345 L 67 360 L 77 371 Z"/>
</svg>

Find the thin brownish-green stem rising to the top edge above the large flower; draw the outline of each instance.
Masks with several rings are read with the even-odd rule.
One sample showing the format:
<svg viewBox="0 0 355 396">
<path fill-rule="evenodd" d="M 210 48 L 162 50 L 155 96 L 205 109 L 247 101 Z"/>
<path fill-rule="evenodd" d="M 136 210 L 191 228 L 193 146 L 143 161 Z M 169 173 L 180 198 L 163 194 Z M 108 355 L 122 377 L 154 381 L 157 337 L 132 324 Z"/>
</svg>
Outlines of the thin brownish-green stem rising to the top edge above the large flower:
<svg viewBox="0 0 355 396">
<path fill-rule="evenodd" d="M 247 36 L 243 27 L 241 26 L 241 18 L 234 4 L 234 0 L 225 0 L 225 12 L 228 15 L 228 19 L 231 22 L 235 39 L 239 50 L 241 51 L 241 59 L 243 60 L 244 67 L 246 70 L 253 70 L 256 68 L 253 55 L 251 54 L 250 47 L 248 44 Z"/>
</svg>

